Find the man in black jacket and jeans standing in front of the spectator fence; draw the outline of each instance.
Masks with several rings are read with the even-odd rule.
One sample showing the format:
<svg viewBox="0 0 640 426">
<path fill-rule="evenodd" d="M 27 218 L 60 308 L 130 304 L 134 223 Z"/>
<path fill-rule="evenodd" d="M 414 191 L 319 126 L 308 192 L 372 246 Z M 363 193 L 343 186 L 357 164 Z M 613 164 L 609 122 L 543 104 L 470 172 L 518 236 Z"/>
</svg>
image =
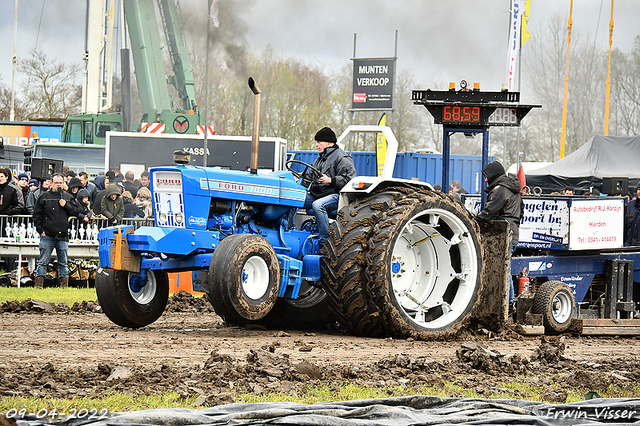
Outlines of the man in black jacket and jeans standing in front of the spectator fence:
<svg viewBox="0 0 640 426">
<path fill-rule="evenodd" d="M 64 191 L 64 176 L 53 175 L 51 190 L 43 192 L 33 210 L 33 224 L 40 234 L 40 258 L 36 270 L 36 288 L 42 288 L 47 265 L 53 249 L 58 258 L 58 279 L 60 287 L 69 285 L 67 251 L 69 249 L 69 217 L 77 216 L 78 209 L 73 196 Z"/>
</svg>

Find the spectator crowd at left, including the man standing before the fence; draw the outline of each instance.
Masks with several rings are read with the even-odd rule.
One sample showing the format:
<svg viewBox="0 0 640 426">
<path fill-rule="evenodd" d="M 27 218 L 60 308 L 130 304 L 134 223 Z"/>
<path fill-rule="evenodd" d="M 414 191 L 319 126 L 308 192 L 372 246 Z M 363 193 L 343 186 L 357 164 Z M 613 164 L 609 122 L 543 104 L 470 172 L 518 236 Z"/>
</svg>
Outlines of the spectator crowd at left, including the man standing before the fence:
<svg viewBox="0 0 640 426">
<path fill-rule="evenodd" d="M 133 172 L 123 176 L 114 168 L 90 182 L 87 173 L 76 175 L 68 169 L 45 179 L 31 179 L 26 173 L 14 178 L 11 170 L 0 168 L 0 216 L 32 216 L 40 250 L 35 287 L 43 288 L 55 250 L 60 287 L 65 288 L 69 284 L 69 219 L 76 217 L 87 225 L 102 220 L 112 226 L 123 218 L 152 218 L 149 173 L 142 172 L 141 179 L 136 180 Z M 0 232 L 9 232 L 2 228 Z M 13 269 L 15 259 L 5 257 L 4 264 L 6 269 Z"/>
</svg>

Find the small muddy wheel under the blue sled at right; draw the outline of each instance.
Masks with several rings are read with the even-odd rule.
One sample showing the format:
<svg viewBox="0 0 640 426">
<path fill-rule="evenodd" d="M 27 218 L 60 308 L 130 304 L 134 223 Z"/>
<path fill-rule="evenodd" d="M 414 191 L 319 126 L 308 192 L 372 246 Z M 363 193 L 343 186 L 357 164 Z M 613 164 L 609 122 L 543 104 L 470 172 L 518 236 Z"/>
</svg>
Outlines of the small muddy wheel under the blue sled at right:
<svg viewBox="0 0 640 426">
<path fill-rule="evenodd" d="M 576 311 L 576 299 L 568 285 L 560 281 L 542 284 L 533 298 L 533 312 L 542 314 L 549 332 L 562 333 L 571 325 Z"/>
</svg>

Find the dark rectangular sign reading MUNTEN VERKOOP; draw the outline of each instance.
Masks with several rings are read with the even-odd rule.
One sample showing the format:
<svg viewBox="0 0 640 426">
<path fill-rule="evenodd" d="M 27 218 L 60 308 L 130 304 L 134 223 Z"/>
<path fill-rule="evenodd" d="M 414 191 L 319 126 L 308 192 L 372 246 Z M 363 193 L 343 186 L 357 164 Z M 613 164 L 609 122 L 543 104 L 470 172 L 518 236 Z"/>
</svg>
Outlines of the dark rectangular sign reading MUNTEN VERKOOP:
<svg viewBox="0 0 640 426">
<path fill-rule="evenodd" d="M 353 59 L 352 109 L 392 109 L 395 58 Z"/>
</svg>

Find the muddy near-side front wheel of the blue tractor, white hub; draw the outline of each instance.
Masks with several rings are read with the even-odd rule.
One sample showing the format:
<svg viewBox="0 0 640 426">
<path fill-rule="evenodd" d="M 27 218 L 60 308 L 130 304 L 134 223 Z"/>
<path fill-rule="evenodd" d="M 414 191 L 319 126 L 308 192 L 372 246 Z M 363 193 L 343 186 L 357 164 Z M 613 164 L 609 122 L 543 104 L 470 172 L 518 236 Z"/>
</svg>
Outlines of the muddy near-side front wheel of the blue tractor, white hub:
<svg viewBox="0 0 640 426">
<path fill-rule="evenodd" d="M 227 323 L 264 318 L 280 289 L 280 264 L 261 236 L 234 234 L 223 239 L 209 265 L 209 300 Z"/>
</svg>

